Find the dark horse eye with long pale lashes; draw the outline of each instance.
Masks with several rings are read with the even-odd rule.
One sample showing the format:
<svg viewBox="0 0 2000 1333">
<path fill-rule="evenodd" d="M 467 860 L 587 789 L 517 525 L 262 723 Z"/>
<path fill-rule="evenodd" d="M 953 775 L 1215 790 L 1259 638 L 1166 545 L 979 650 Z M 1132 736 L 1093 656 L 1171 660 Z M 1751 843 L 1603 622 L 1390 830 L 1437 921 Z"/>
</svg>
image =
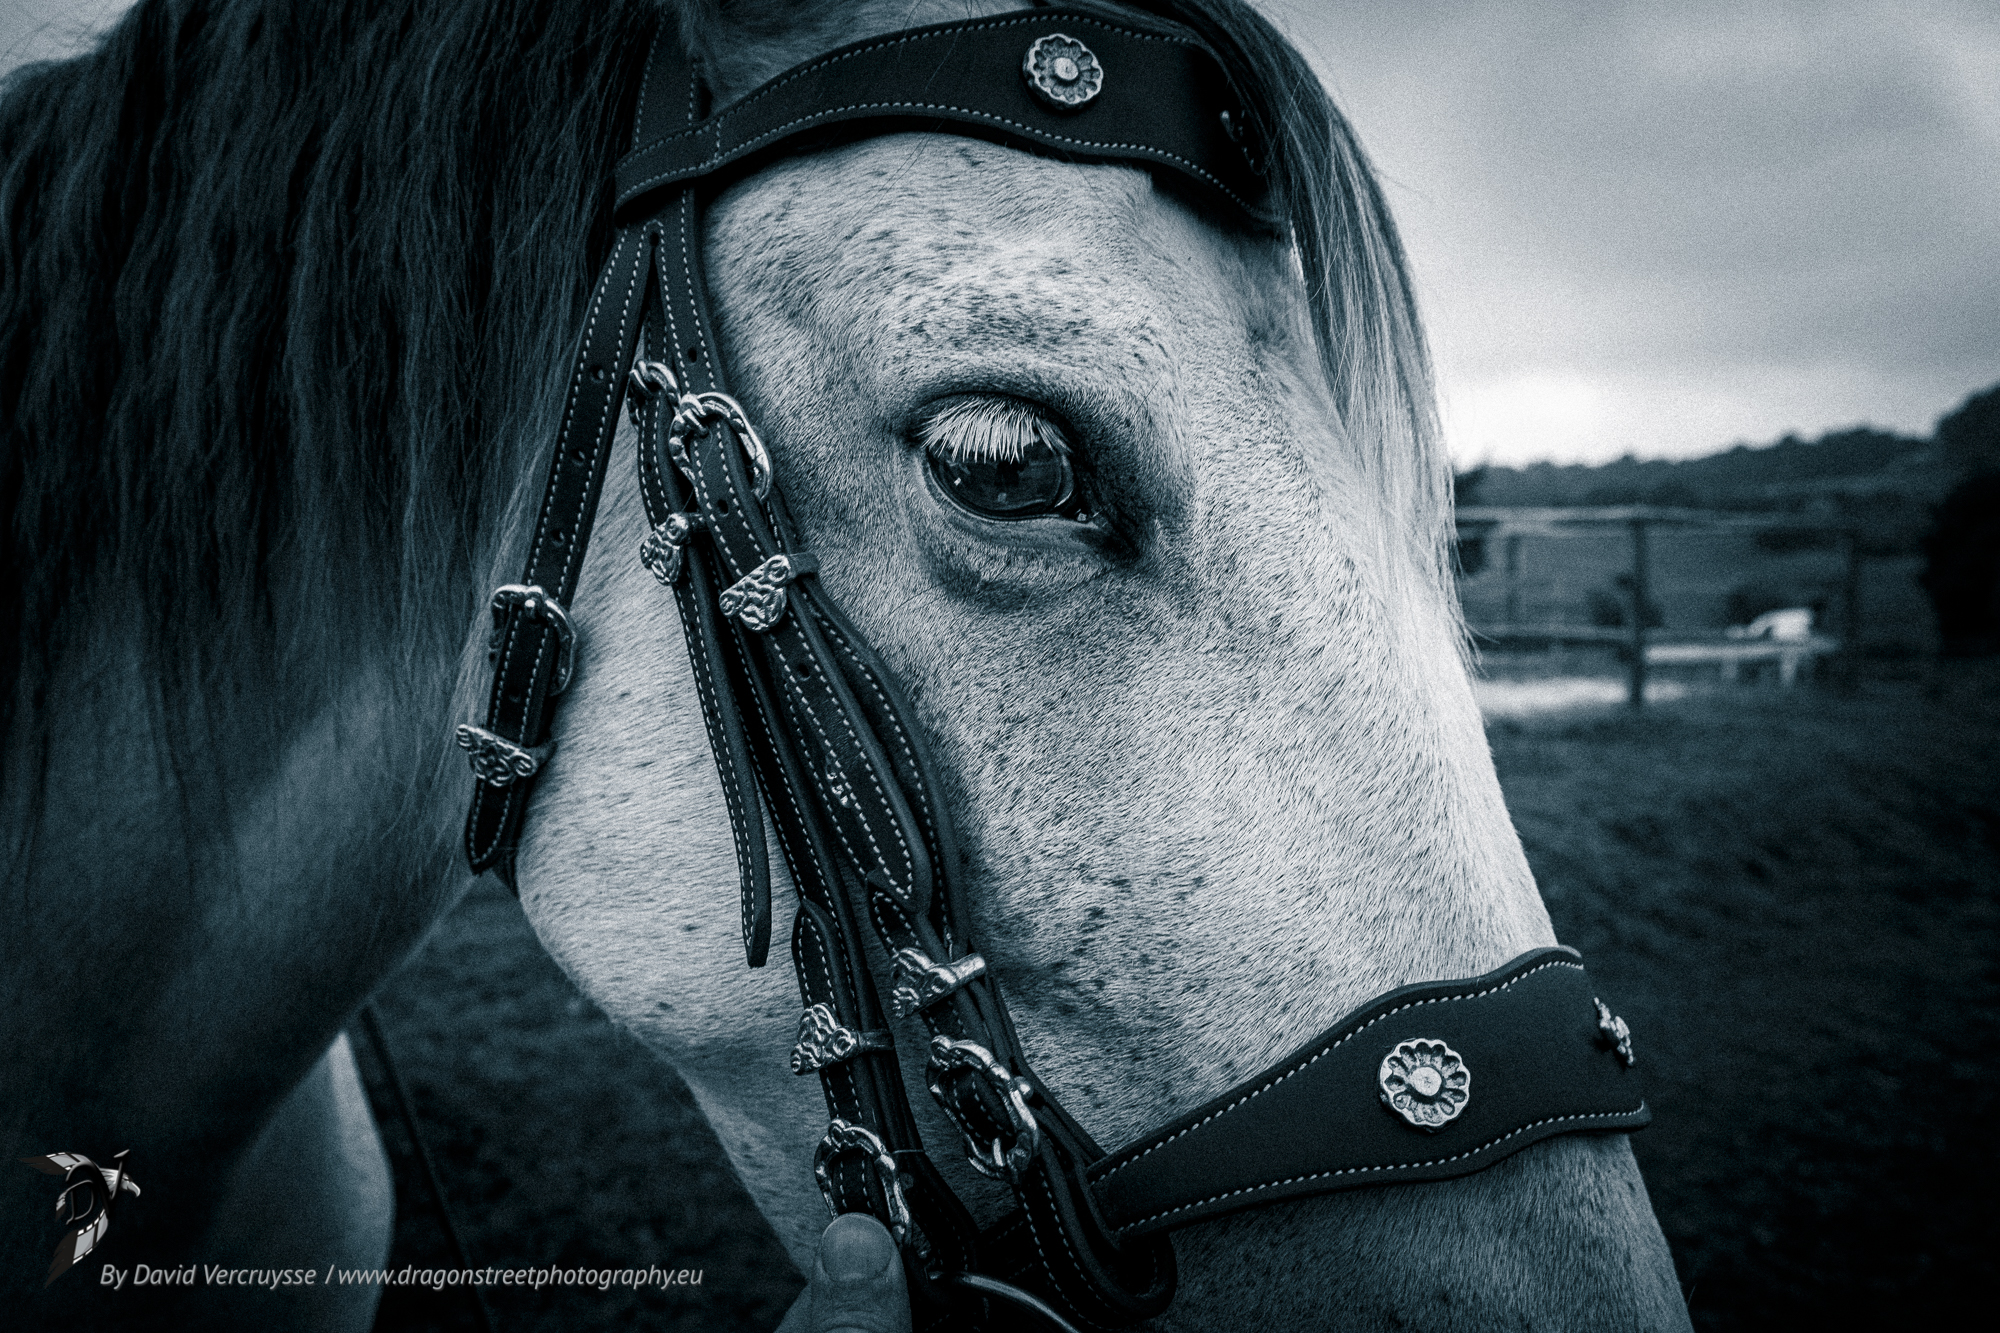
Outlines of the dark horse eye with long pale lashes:
<svg viewBox="0 0 2000 1333">
<path fill-rule="evenodd" d="M 1016 398 L 952 398 L 916 430 L 938 488 L 982 518 L 1084 518 L 1062 428 Z"/>
</svg>

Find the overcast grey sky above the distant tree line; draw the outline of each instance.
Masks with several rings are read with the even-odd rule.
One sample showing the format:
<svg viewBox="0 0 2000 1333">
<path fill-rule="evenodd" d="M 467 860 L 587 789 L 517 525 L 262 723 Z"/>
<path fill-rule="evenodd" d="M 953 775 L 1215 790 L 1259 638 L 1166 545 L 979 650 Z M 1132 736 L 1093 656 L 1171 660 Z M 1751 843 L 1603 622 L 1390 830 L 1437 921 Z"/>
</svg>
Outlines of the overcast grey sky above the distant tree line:
<svg viewBox="0 0 2000 1333">
<path fill-rule="evenodd" d="M 0 0 L 0 68 L 122 8 Z M 2000 382 L 1994 0 L 1262 8 L 1386 182 L 1460 466 L 1928 434 Z"/>
</svg>

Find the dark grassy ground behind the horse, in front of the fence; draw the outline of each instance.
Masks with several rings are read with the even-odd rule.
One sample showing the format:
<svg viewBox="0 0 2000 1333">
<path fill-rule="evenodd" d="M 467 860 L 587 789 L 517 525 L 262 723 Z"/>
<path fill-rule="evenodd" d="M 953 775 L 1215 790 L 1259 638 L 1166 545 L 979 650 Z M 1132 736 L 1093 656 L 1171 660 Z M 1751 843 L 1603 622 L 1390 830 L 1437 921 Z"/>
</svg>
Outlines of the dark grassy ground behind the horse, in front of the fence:
<svg viewBox="0 0 2000 1333">
<path fill-rule="evenodd" d="M 1914 1327 L 1994 1281 L 2000 675 L 1696 689 L 1490 725 L 1558 935 L 1630 1019 L 1634 1137 L 1698 1329 Z M 672 1073 L 482 887 L 378 997 L 476 1265 L 698 1267 L 666 1293 L 490 1293 L 494 1325 L 770 1329 L 798 1277 Z M 366 1043 L 364 1043 L 366 1045 Z M 364 1051 L 366 1055 L 366 1051 Z M 394 1263 L 454 1263 L 396 1157 Z M 478 1329 L 392 1293 L 378 1329 Z"/>
</svg>

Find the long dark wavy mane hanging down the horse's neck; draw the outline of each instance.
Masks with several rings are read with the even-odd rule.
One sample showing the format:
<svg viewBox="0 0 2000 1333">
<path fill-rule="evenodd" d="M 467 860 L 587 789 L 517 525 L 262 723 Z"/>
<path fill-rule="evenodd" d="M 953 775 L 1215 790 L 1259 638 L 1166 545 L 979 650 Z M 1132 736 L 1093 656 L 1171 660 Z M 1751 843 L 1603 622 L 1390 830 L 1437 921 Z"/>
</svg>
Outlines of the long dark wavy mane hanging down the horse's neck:
<svg viewBox="0 0 2000 1333">
<path fill-rule="evenodd" d="M 156 727 L 246 662 L 312 693 L 384 632 L 456 658 L 480 524 L 542 444 L 608 248 L 658 14 L 142 0 L 8 76 L 14 779 L 38 785 L 52 673 L 106 620 L 138 634 Z"/>
</svg>

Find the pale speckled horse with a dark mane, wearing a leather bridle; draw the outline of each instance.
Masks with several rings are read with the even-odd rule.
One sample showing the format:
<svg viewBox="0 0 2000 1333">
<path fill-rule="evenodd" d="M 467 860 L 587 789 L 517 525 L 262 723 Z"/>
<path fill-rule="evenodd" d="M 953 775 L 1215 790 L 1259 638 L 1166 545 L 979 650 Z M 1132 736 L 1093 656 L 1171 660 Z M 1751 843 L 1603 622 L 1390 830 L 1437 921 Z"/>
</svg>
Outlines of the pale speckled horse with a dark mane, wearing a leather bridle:
<svg viewBox="0 0 2000 1333">
<path fill-rule="evenodd" d="M 6 1127 L 20 1153 L 130 1149 L 114 1261 L 386 1253 L 342 1031 L 470 883 L 452 729 L 486 691 L 484 588 L 536 522 L 656 30 L 728 106 L 1012 8 L 142 0 L 8 78 Z M 760 162 L 700 246 L 820 580 L 936 757 L 1022 1043 L 1122 1143 L 1368 997 L 1554 933 L 1468 685 L 1428 354 L 1366 156 L 1242 0 L 1084 8 L 1242 52 L 1276 108 L 1276 230 L 1140 166 L 894 132 Z M 1070 510 L 950 492 L 1030 448 Z M 632 558 L 634 452 L 628 426 L 512 877 L 806 1267 L 826 1115 L 784 1065 L 792 981 L 742 967 L 726 795 Z M 44 1181 L 6 1179 L 30 1317 L 372 1317 L 352 1287 L 38 1291 Z M 1150 1327 L 1688 1327 L 1618 1133 L 1204 1221 L 1176 1255 Z"/>
</svg>

